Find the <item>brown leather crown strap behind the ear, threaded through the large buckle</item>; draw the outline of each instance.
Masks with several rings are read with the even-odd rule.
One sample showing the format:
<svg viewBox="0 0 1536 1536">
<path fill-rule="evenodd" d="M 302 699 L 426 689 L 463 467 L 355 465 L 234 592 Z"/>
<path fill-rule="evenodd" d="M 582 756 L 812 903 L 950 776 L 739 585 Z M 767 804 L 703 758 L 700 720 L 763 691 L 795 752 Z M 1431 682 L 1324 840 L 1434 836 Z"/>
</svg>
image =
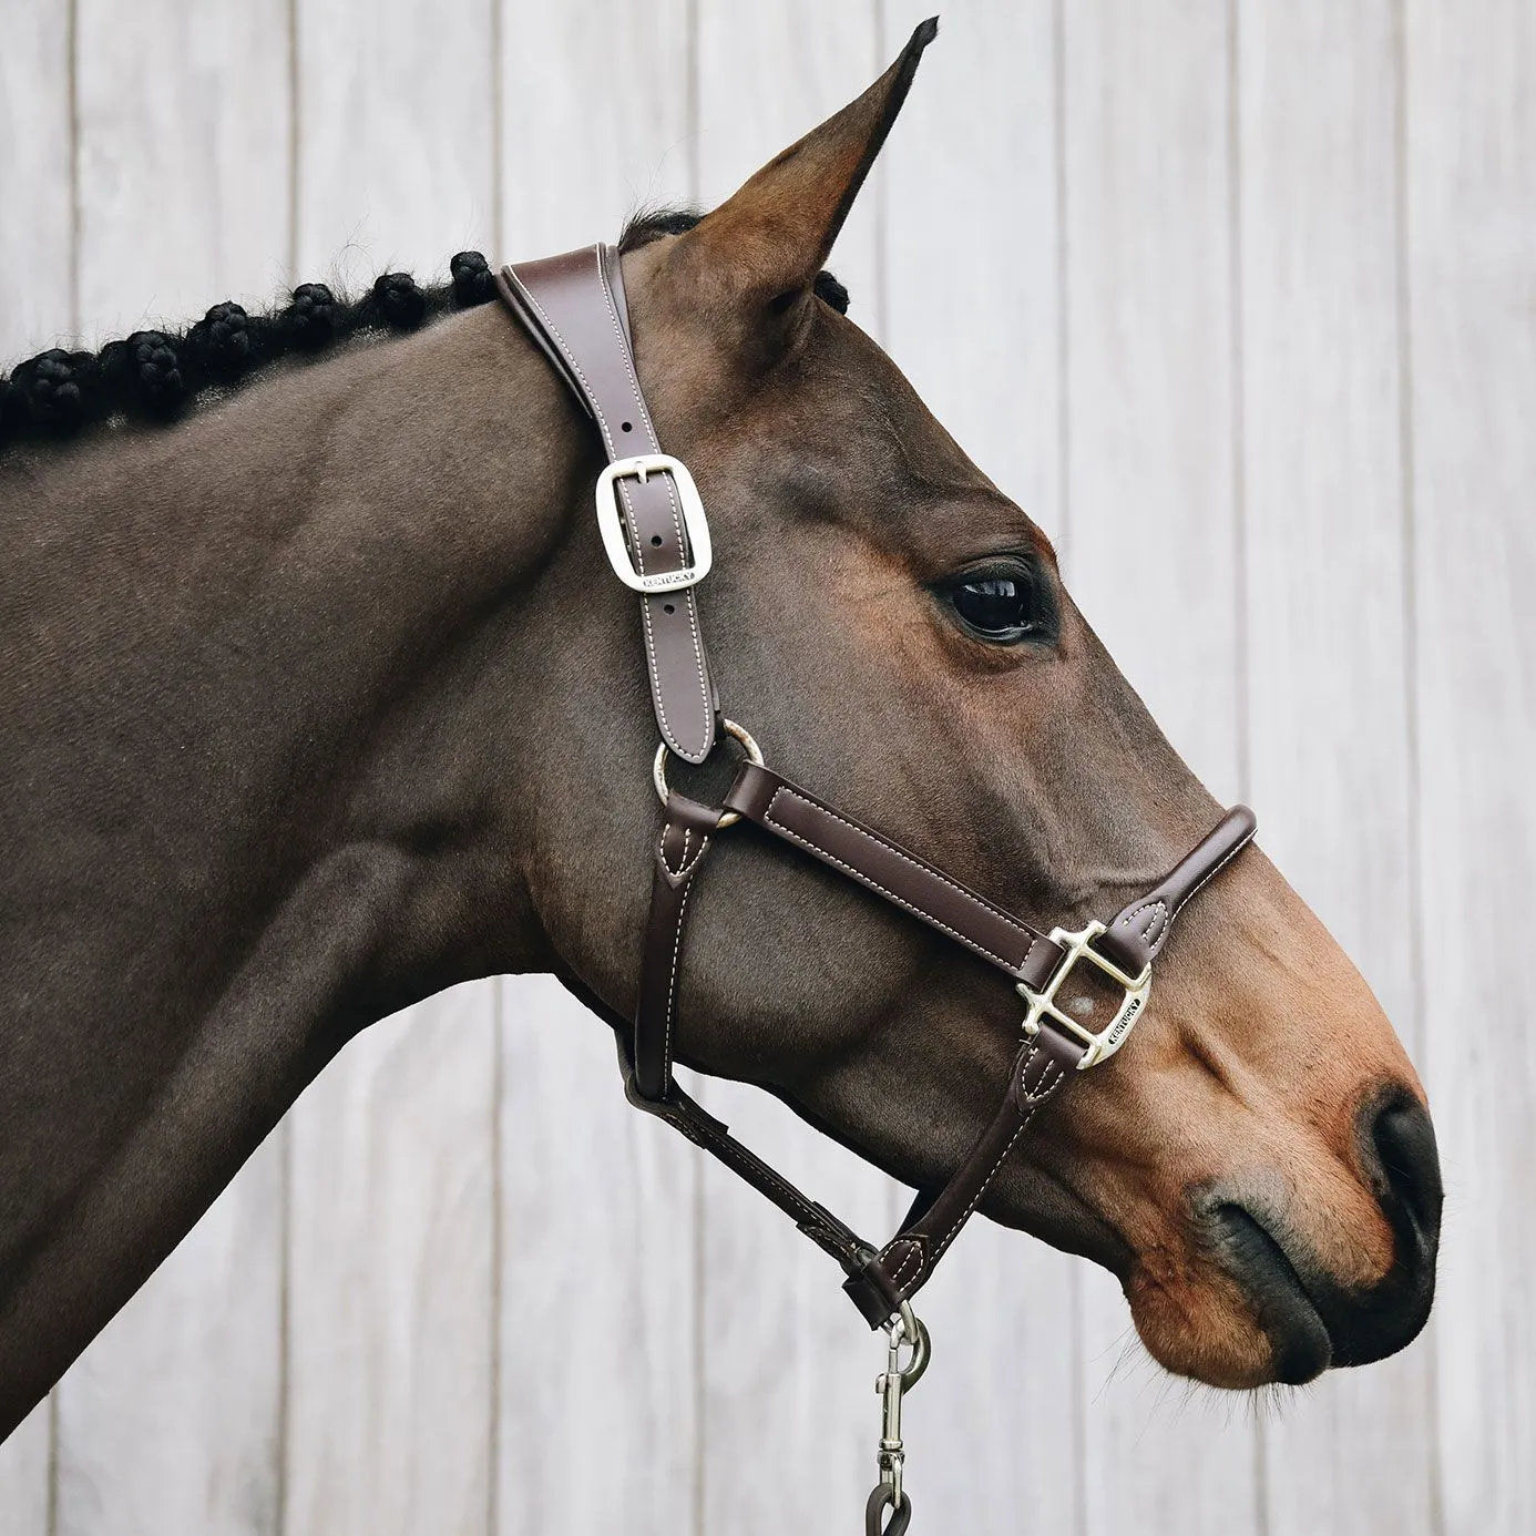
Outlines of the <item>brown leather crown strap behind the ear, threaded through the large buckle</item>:
<svg viewBox="0 0 1536 1536">
<path fill-rule="evenodd" d="M 496 286 L 596 421 L 608 461 L 660 453 L 634 370 L 624 276 L 613 246 L 587 246 L 502 267 Z M 653 472 L 644 481 L 625 478 L 614 488 L 641 576 L 693 564 L 677 487 L 668 472 Z M 703 762 L 714 746 L 719 708 L 693 588 L 644 593 L 641 624 L 662 739 L 679 757 Z"/>
</svg>

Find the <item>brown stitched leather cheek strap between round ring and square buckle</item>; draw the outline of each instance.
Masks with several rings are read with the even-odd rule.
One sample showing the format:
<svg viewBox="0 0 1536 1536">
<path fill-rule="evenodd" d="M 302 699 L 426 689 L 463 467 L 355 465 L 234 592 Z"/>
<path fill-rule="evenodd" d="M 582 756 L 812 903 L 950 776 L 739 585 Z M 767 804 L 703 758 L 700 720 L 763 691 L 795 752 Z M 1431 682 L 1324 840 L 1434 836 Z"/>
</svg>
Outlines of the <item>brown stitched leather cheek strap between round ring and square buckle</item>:
<svg viewBox="0 0 1536 1536">
<path fill-rule="evenodd" d="M 725 808 L 852 876 L 1029 986 L 1044 986 L 1061 963 L 1061 946 L 1044 934 L 771 768 L 742 763 Z"/>
</svg>

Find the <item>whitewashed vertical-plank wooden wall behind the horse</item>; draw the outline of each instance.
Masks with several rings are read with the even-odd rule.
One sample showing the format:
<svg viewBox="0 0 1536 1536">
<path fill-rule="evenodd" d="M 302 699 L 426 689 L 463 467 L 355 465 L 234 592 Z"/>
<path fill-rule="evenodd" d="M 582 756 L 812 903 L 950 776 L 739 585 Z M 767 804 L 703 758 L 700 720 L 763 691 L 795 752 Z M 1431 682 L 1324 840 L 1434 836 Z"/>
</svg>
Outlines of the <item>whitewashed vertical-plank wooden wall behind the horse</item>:
<svg viewBox="0 0 1536 1536">
<path fill-rule="evenodd" d="M 925 9 L 0 0 L 0 356 L 716 200 Z M 1536 5 L 943 22 L 834 261 L 852 313 L 1260 808 L 1425 1074 L 1448 1206 L 1425 1338 L 1256 1404 L 1161 1376 L 1107 1276 L 983 1224 L 925 1309 L 922 1530 L 1527 1536 Z M 863 1226 L 900 1209 L 703 1092 Z M 852 1530 L 876 1369 L 834 1267 L 625 1109 L 601 1025 L 487 983 L 326 1074 L 0 1447 L 0 1533 Z"/>
</svg>

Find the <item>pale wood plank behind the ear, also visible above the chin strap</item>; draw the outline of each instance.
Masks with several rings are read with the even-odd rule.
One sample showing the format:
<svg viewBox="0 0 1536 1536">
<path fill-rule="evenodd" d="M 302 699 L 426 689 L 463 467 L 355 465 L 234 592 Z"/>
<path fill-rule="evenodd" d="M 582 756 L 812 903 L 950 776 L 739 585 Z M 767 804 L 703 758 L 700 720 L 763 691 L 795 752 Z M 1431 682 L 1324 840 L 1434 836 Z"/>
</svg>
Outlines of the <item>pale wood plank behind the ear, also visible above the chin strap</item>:
<svg viewBox="0 0 1536 1536">
<path fill-rule="evenodd" d="M 705 207 L 851 101 L 889 61 L 874 0 L 771 8 L 699 0 L 697 17 Z M 879 233 L 871 183 L 831 269 L 851 293 L 849 318 L 877 338 Z M 889 1226 L 892 1186 L 883 1175 L 754 1089 L 710 1083 L 705 1094 L 713 1114 L 856 1230 Z M 707 1166 L 702 1177 L 703 1530 L 777 1536 L 852 1525 L 874 1482 L 869 1382 L 883 1356 L 842 1295 L 836 1264 L 725 1169 Z M 743 1479 L 743 1468 L 765 1456 L 794 1468 L 773 1499 L 754 1498 L 751 1476 Z"/>
</svg>

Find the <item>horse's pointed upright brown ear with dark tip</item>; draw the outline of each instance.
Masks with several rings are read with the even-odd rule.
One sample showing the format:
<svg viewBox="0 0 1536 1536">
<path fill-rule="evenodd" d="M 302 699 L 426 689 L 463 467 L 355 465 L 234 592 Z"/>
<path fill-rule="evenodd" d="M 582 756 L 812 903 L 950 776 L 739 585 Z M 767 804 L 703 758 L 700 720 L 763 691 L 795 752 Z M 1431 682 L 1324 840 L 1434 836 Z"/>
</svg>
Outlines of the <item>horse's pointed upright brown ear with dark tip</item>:
<svg viewBox="0 0 1536 1536">
<path fill-rule="evenodd" d="M 923 22 L 862 97 L 770 160 L 676 241 L 674 270 L 714 319 L 725 319 L 720 310 L 728 309 L 759 333 L 796 333 L 816 275 L 937 32 L 937 17 Z"/>
</svg>

